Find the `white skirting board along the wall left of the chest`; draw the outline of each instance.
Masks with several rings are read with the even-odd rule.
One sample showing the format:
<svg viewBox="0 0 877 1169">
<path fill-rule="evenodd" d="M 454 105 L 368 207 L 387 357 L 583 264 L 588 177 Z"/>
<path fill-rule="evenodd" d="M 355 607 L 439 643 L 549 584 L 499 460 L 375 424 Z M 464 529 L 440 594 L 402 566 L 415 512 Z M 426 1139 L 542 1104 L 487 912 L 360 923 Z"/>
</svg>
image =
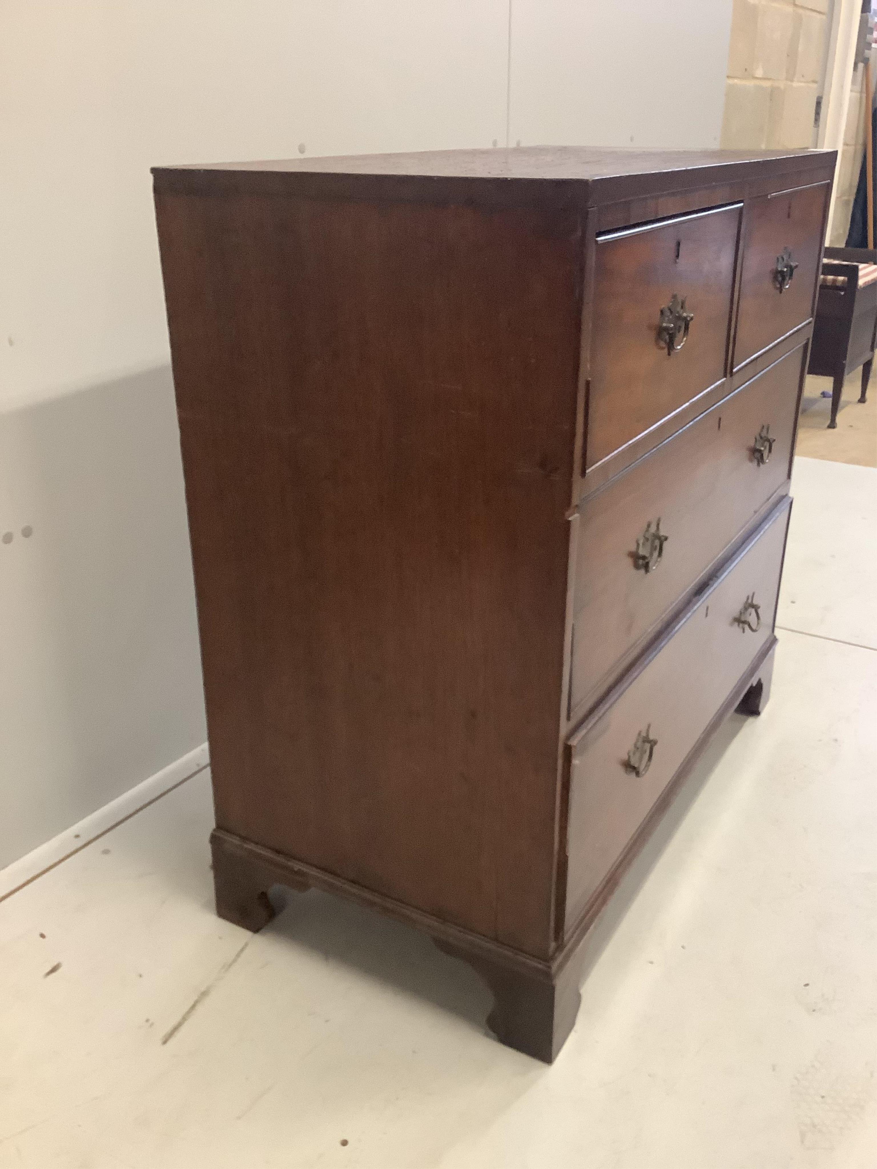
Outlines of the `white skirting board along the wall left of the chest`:
<svg viewBox="0 0 877 1169">
<path fill-rule="evenodd" d="M 179 787 L 186 780 L 192 779 L 209 765 L 207 743 L 187 752 L 180 759 L 163 767 L 160 772 L 150 775 L 143 783 L 123 793 L 116 800 L 92 811 L 90 816 L 81 819 L 78 824 L 72 824 L 63 832 L 58 832 L 53 839 L 41 844 L 33 852 L 28 852 L 19 860 L 13 860 L 6 869 L 0 869 L 0 901 L 18 892 L 25 885 L 29 885 L 42 873 L 62 860 L 80 852 L 98 837 L 105 836 L 124 819 L 129 819 L 146 804 L 153 803 L 172 788 Z"/>
</svg>

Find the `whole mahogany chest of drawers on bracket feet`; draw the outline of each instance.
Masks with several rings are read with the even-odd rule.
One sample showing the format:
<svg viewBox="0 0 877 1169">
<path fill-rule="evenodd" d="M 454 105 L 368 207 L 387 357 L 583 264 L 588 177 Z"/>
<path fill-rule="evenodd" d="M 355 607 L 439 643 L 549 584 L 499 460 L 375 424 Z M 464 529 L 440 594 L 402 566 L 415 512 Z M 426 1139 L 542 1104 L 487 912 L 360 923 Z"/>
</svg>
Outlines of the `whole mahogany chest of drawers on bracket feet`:
<svg viewBox="0 0 877 1169">
<path fill-rule="evenodd" d="M 554 1058 L 620 877 L 767 699 L 834 161 L 153 172 L 223 918 L 354 898 Z"/>
</svg>

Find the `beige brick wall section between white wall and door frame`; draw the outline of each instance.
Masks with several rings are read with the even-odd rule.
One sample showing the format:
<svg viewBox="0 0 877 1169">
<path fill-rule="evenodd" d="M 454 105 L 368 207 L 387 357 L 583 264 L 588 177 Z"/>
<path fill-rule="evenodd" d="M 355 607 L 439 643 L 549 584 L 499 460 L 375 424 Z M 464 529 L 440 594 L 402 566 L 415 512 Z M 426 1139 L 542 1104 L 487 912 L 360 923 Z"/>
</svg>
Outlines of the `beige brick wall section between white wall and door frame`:
<svg viewBox="0 0 877 1169">
<path fill-rule="evenodd" d="M 734 0 L 721 145 L 810 146 L 828 0 Z"/>
</svg>

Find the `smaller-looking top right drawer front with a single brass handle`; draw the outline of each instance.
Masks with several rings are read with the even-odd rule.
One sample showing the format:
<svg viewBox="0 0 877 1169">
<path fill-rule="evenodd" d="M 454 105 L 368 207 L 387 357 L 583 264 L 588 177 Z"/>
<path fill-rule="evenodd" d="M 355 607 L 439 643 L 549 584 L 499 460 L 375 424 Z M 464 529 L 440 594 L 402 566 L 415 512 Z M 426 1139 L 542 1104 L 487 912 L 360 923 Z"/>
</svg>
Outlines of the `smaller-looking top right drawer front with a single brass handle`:
<svg viewBox="0 0 877 1169">
<path fill-rule="evenodd" d="M 809 319 L 828 189 L 820 182 L 753 199 L 747 206 L 736 369 Z M 797 265 L 790 281 L 786 251 Z"/>
</svg>

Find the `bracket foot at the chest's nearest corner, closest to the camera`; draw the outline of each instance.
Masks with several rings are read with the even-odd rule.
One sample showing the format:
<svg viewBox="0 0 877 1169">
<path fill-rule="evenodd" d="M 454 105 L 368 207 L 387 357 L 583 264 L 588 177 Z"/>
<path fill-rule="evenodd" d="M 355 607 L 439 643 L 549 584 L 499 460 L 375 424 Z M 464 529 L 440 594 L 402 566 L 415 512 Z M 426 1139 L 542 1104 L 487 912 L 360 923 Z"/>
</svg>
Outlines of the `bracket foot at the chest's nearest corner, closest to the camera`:
<svg viewBox="0 0 877 1169">
<path fill-rule="evenodd" d="M 486 1022 L 497 1039 L 525 1056 L 553 1063 L 579 1014 L 580 955 L 573 955 L 552 975 L 536 963 L 532 971 L 516 969 L 467 952 L 443 938 L 433 941 L 446 954 L 471 966 L 486 982 L 493 995 L 493 1009 Z"/>
</svg>

